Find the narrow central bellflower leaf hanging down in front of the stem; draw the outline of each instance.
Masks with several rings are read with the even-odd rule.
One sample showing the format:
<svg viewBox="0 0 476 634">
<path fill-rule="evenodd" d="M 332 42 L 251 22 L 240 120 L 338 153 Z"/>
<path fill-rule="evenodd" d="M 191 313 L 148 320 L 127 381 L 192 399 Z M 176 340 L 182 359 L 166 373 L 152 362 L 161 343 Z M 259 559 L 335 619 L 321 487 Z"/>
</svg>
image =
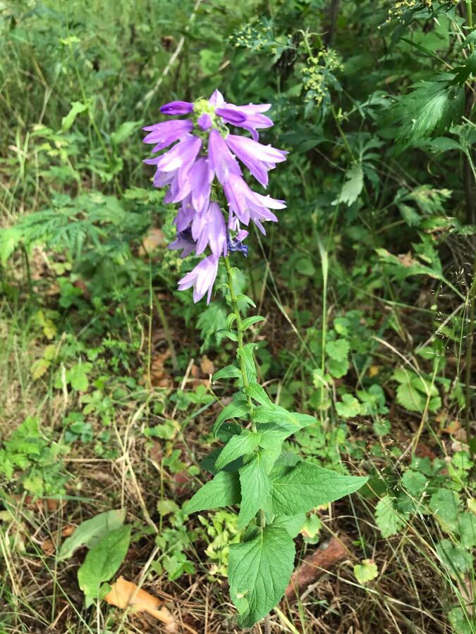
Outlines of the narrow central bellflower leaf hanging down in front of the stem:
<svg viewBox="0 0 476 634">
<path fill-rule="evenodd" d="M 244 528 L 260 509 L 269 508 L 271 480 L 260 454 L 240 468 L 241 504 L 238 528 Z M 291 515 L 291 514 L 288 514 Z"/>
</svg>

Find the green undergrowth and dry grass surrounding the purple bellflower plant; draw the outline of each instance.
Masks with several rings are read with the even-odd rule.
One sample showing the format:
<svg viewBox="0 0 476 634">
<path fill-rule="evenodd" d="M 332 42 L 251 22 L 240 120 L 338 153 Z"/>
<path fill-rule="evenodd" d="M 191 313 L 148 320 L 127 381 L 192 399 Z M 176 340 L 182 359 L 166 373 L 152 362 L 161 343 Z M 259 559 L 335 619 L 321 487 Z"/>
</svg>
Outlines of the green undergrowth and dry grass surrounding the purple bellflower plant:
<svg viewBox="0 0 476 634">
<path fill-rule="evenodd" d="M 236 631 L 236 515 L 181 511 L 231 394 L 226 304 L 176 291 L 193 262 L 141 142 L 216 87 L 273 104 L 290 153 L 240 280 L 269 394 L 319 420 L 288 449 L 370 475 L 307 518 L 296 567 L 345 557 L 271 630 L 476 632 L 475 42 L 471 0 L 0 3 L 2 633 L 157 630 L 85 602 L 88 574 Z M 65 542 L 114 509 L 112 546 Z"/>
</svg>

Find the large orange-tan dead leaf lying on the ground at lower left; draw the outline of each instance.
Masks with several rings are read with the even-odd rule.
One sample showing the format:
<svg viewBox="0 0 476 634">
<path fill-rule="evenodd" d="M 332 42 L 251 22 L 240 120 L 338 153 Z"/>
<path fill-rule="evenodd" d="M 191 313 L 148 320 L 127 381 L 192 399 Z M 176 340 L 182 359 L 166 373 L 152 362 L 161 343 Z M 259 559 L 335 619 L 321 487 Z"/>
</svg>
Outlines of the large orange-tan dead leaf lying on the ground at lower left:
<svg viewBox="0 0 476 634">
<path fill-rule="evenodd" d="M 138 588 L 138 585 L 132 581 L 126 581 L 123 577 L 119 577 L 116 583 L 111 585 L 111 590 L 104 597 L 104 601 L 121 610 L 133 607 L 136 611 L 145 611 L 165 623 L 167 632 L 177 631 L 176 622 L 169 610 L 166 607 L 159 609 L 164 602 L 149 594 L 146 590 Z"/>
</svg>

